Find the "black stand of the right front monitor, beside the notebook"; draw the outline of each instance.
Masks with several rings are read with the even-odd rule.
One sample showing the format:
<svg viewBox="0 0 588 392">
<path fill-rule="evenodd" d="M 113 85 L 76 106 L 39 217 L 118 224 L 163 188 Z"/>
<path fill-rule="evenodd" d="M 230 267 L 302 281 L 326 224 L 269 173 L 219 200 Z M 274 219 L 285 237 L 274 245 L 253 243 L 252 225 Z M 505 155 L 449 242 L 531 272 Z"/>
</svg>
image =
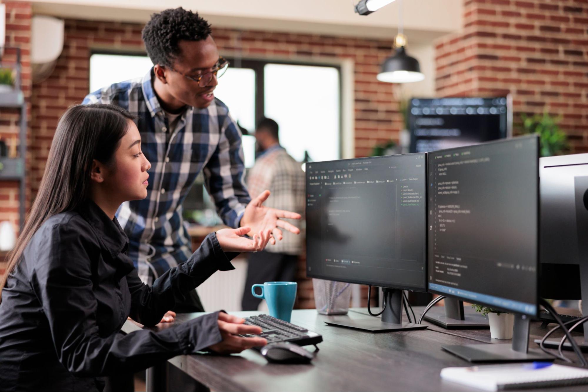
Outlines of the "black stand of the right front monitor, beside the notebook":
<svg viewBox="0 0 588 392">
<path fill-rule="evenodd" d="M 469 362 L 531 362 L 553 361 L 554 357 L 540 350 L 529 350 L 531 317 L 515 313 L 512 345 L 500 343 L 443 346 L 442 349 Z"/>
</svg>

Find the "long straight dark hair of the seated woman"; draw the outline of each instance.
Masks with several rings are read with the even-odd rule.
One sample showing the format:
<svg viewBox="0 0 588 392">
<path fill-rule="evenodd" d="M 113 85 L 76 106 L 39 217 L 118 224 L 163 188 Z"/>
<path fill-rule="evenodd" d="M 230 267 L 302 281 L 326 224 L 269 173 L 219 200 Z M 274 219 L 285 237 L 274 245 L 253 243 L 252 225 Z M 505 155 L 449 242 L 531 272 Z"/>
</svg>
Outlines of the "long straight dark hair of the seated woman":
<svg viewBox="0 0 588 392">
<path fill-rule="evenodd" d="M 135 117 L 125 109 L 102 103 L 71 106 L 61 117 L 31 213 L 8 254 L 8 266 L 0 279 L 0 301 L 6 279 L 36 230 L 49 217 L 88 201 L 93 159 L 105 165 L 112 163 L 129 120 Z"/>
</svg>

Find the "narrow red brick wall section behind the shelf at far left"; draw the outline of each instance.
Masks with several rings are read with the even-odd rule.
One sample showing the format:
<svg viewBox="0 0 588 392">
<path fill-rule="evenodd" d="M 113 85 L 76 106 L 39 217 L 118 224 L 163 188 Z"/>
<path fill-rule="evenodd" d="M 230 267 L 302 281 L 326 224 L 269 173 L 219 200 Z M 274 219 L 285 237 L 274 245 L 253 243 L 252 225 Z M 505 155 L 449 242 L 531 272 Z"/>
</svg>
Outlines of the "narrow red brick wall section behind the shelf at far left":
<svg viewBox="0 0 588 392">
<path fill-rule="evenodd" d="M 21 1 L 3 1 L 2 3 L 6 5 L 5 46 L 7 49 L 4 51 L 1 64 L 2 66 L 14 66 L 16 63 L 16 51 L 11 48 L 16 46 L 21 48 L 22 91 L 25 96 L 25 101 L 29 103 L 28 113 L 30 113 L 32 86 L 30 62 L 31 3 Z M 0 139 L 8 143 L 19 140 L 19 118 L 20 109 L 0 108 Z M 28 120 L 30 121 L 30 114 L 28 115 Z M 30 173 L 31 158 L 31 154 L 27 153 L 25 165 L 27 174 Z M 27 183 L 29 184 L 30 182 L 28 181 Z M 27 189 L 30 189 L 30 186 L 27 186 Z M 26 195 L 27 200 L 29 200 L 29 193 L 27 192 Z M 17 233 L 19 228 L 18 206 L 19 183 L 16 181 L 0 181 L 0 222 L 8 220 L 12 223 Z M 4 273 L 4 258 L 5 254 L 0 253 L 0 274 Z"/>
</svg>

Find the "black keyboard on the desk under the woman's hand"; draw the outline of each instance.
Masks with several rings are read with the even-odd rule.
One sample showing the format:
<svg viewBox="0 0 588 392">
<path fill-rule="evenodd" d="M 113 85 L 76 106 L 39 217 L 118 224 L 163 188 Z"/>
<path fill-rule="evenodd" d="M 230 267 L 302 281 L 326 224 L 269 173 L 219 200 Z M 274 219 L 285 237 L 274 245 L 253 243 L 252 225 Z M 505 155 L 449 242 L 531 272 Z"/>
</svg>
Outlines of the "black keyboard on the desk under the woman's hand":
<svg viewBox="0 0 588 392">
<path fill-rule="evenodd" d="M 323 337 L 318 333 L 309 331 L 304 327 L 297 326 L 288 321 L 276 319 L 267 314 L 259 316 L 245 317 L 245 325 L 258 326 L 261 328 L 261 335 L 243 335 L 246 337 L 265 337 L 269 343 L 278 343 L 279 341 L 289 341 L 298 344 L 298 346 L 308 346 L 323 341 Z M 259 347 L 260 348 L 260 347 Z"/>
</svg>

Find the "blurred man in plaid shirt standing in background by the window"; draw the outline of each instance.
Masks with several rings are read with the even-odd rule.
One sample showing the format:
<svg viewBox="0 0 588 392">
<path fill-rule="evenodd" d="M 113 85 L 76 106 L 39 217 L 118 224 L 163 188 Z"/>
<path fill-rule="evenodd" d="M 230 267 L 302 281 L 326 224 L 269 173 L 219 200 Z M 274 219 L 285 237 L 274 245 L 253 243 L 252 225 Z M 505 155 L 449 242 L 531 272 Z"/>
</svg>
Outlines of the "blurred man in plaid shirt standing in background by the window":
<svg viewBox="0 0 588 392">
<path fill-rule="evenodd" d="M 247 185 L 252 197 L 265 189 L 272 192 L 267 205 L 302 214 L 305 209 L 305 175 L 300 162 L 288 155 L 278 137 L 278 123 L 263 119 L 255 130 L 258 155 L 250 170 Z M 241 301 L 242 310 L 257 310 L 260 299 L 253 297 L 255 283 L 286 281 L 296 277 L 298 256 L 302 253 L 302 237 L 285 233 L 283 240 L 257 253 L 249 253 L 247 279 Z"/>
</svg>

